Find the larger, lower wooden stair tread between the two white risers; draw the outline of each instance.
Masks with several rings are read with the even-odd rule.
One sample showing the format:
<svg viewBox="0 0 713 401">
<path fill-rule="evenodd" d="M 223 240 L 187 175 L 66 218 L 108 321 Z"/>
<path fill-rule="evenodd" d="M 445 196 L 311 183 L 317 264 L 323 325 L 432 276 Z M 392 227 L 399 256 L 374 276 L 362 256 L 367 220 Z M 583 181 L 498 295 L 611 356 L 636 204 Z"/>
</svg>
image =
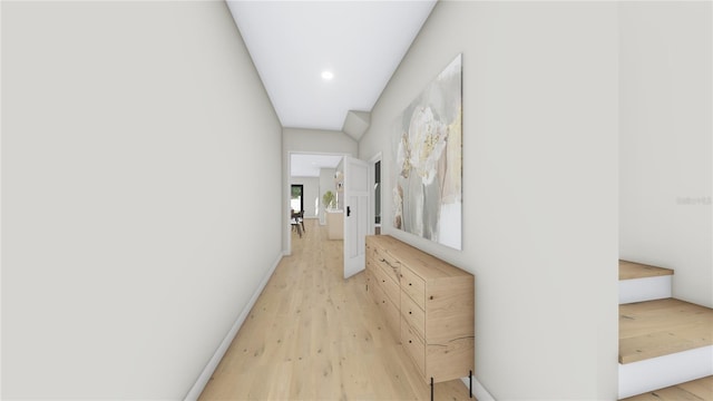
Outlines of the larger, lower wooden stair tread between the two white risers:
<svg viewBox="0 0 713 401">
<path fill-rule="evenodd" d="M 619 305 L 619 363 L 713 345 L 713 310 L 676 299 Z"/>
</svg>

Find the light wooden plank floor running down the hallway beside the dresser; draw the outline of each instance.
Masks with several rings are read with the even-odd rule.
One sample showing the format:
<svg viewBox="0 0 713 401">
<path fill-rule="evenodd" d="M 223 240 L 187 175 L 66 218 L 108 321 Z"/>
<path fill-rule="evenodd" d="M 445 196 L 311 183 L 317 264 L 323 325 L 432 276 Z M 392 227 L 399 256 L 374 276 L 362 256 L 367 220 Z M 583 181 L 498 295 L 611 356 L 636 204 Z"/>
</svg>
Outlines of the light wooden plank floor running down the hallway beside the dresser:
<svg viewBox="0 0 713 401">
<path fill-rule="evenodd" d="M 343 278 L 342 242 L 305 221 L 201 400 L 428 400 L 430 388 L 387 329 L 360 273 Z M 437 400 L 475 400 L 460 380 Z"/>
</svg>

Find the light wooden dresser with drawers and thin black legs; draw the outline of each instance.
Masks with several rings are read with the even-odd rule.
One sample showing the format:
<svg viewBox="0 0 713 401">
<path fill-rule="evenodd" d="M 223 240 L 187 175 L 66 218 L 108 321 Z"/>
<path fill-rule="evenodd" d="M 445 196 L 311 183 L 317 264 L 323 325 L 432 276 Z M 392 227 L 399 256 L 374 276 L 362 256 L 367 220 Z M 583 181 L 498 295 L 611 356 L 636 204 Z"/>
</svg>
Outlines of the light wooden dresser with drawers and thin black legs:
<svg viewBox="0 0 713 401">
<path fill-rule="evenodd" d="M 389 235 L 367 237 L 367 291 L 429 383 L 473 370 L 475 278 Z"/>
</svg>

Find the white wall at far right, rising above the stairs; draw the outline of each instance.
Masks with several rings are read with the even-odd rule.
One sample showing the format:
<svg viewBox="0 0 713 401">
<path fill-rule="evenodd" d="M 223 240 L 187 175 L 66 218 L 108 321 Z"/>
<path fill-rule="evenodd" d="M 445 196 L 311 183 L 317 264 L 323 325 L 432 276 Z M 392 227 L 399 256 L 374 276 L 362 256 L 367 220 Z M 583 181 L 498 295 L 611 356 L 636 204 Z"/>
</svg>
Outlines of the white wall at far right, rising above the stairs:
<svg viewBox="0 0 713 401">
<path fill-rule="evenodd" d="M 624 260 L 675 271 L 673 295 L 713 307 L 711 8 L 621 4 Z"/>
</svg>

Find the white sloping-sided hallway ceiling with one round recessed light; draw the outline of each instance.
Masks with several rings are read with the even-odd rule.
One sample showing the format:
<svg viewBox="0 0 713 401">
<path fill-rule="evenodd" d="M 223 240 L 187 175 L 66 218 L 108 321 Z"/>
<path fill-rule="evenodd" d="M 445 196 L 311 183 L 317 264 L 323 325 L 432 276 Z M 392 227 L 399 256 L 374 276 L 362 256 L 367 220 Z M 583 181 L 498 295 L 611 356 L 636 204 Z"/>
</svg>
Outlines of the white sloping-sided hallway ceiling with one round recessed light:
<svg viewBox="0 0 713 401">
<path fill-rule="evenodd" d="M 436 0 L 227 4 L 282 126 L 341 130 L 371 111 Z"/>
</svg>

